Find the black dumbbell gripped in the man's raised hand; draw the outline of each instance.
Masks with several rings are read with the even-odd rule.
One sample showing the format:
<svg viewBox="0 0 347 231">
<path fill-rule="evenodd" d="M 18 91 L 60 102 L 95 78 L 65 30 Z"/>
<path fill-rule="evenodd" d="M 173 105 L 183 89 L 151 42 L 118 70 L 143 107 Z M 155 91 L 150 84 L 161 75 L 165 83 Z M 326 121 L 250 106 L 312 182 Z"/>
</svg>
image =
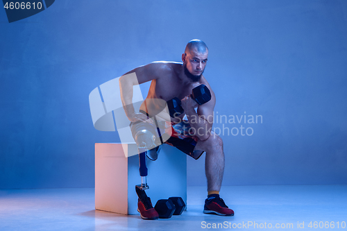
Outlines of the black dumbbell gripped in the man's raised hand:
<svg viewBox="0 0 347 231">
<path fill-rule="evenodd" d="M 190 97 L 192 97 L 192 99 L 194 99 L 198 105 L 203 105 L 211 100 L 211 92 L 206 85 L 201 84 L 192 89 L 192 94 L 190 94 Z M 181 101 L 177 97 L 167 101 L 167 106 L 169 108 L 171 117 L 178 117 L 184 111 L 181 106 Z"/>
</svg>

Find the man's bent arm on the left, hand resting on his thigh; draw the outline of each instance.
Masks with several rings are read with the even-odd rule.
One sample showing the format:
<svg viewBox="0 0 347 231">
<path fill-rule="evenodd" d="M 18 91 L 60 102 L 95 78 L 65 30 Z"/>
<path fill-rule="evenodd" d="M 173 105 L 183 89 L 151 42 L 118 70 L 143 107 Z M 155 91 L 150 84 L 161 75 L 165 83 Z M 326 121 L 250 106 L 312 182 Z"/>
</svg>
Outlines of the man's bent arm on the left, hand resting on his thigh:
<svg viewBox="0 0 347 231">
<path fill-rule="evenodd" d="M 163 62 L 152 62 L 149 65 L 137 67 L 119 78 L 119 87 L 121 90 L 121 103 L 126 112 L 126 116 L 132 122 L 146 121 L 147 117 L 139 112 L 135 112 L 133 107 L 133 86 L 158 79 L 160 72 L 167 68 Z M 128 75 L 135 73 L 135 75 Z"/>
</svg>

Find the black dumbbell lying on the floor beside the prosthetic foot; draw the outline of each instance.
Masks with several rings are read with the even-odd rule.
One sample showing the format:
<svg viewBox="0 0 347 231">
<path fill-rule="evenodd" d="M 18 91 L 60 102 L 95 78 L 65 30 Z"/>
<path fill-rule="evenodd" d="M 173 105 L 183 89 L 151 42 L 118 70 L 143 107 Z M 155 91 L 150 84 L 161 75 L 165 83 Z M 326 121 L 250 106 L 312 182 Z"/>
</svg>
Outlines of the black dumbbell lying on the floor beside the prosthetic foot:
<svg viewBox="0 0 347 231">
<path fill-rule="evenodd" d="M 159 218 L 169 219 L 172 215 L 180 215 L 185 209 L 185 202 L 181 197 L 170 197 L 169 199 L 158 200 L 154 206 Z"/>
</svg>

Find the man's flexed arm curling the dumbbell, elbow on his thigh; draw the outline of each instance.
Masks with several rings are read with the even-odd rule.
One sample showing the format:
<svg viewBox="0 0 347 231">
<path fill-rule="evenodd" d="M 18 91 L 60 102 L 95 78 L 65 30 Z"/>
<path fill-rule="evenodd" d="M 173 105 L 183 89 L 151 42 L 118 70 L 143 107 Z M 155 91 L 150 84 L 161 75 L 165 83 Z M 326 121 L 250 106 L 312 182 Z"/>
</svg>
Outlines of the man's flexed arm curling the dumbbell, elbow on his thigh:
<svg viewBox="0 0 347 231">
<path fill-rule="evenodd" d="M 210 86 L 208 87 L 211 89 Z M 216 97 L 212 90 L 210 92 L 211 100 L 208 103 L 199 105 L 197 112 L 194 110 L 196 102 L 193 99 L 187 96 L 182 100 L 182 107 L 185 110 L 185 114 L 187 114 L 190 126 L 195 129 L 195 135 L 201 140 L 210 137 L 213 125 L 213 110 L 214 105 L 216 105 Z"/>
</svg>

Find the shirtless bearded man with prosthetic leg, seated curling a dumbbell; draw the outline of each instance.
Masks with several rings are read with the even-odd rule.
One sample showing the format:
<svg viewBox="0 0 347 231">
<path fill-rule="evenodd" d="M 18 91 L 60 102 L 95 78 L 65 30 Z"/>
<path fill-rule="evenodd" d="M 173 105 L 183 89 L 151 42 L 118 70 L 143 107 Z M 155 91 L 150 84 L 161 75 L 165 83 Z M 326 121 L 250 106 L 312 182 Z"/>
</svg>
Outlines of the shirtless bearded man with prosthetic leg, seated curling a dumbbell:
<svg viewBox="0 0 347 231">
<path fill-rule="evenodd" d="M 178 62 L 152 62 L 149 65 L 137 67 L 127 74 L 135 72 L 137 80 L 130 80 L 126 76 L 119 79 L 121 86 L 121 101 L 124 105 L 126 116 L 132 123 L 139 121 L 149 121 L 146 113 L 151 115 L 147 108 L 160 108 L 155 105 L 156 101 L 149 101 L 154 105 L 142 105 L 140 110 L 143 112 L 135 112 L 132 103 L 133 85 L 151 82 L 151 87 L 146 99 L 162 99 L 169 101 L 174 97 L 178 97 L 182 101 L 184 113 L 179 117 L 171 118 L 173 134 L 175 130 L 180 136 L 171 135 L 167 140 L 167 144 L 176 146 L 177 139 L 180 140 L 179 148 L 198 159 L 203 151 L 205 156 L 205 174 L 208 180 L 208 198 L 205 200 L 204 213 L 218 214 L 221 216 L 233 216 L 234 212 L 219 197 L 221 182 L 224 171 L 224 152 L 223 141 L 221 137 L 212 131 L 213 110 L 216 104 L 216 98 L 208 81 L 203 76 L 206 63 L 208 61 L 208 47 L 201 40 L 192 40 L 188 42 L 185 53 L 182 54 L 183 63 Z M 211 92 L 212 99 L 203 105 L 198 105 L 191 97 L 192 89 L 198 85 L 206 85 Z M 146 107 L 145 107 L 146 106 Z M 197 108 L 197 110 L 195 110 Z M 184 121 L 183 117 L 187 116 L 188 121 Z M 184 124 L 183 124 L 184 123 Z M 178 124 L 180 126 L 178 126 Z M 182 130 L 183 128 L 183 130 Z M 194 128 L 198 131 L 193 135 L 189 135 L 187 129 Z M 182 137 L 187 145 L 182 146 Z M 151 200 L 139 198 L 139 212 L 143 219 L 158 219 L 158 213 L 151 205 Z"/>
</svg>

